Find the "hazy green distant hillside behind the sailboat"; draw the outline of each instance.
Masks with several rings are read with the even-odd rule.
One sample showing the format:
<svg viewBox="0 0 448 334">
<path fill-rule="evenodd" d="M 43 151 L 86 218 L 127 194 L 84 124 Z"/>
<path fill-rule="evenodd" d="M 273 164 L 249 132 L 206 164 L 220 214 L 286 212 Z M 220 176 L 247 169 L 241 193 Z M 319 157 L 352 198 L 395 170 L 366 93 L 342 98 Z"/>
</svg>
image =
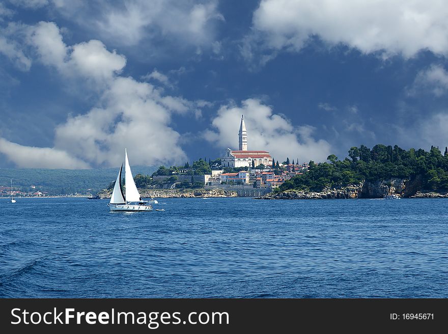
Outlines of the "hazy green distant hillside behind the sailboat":
<svg viewBox="0 0 448 334">
<path fill-rule="evenodd" d="M 132 166 L 132 174 L 151 175 L 156 167 Z M 71 193 L 97 193 L 107 188 L 110 182 L 117 178 L 118 168 L 91 170 L 63 170 L 63 169 L 3 169 L 0 168 L 0 186 L 9 187 L 10 180 L 13 189 L 32 191 L 46 191 L 49 195 Z M 91 190 L 88 190 L 91 189 Z"/>
</svg>

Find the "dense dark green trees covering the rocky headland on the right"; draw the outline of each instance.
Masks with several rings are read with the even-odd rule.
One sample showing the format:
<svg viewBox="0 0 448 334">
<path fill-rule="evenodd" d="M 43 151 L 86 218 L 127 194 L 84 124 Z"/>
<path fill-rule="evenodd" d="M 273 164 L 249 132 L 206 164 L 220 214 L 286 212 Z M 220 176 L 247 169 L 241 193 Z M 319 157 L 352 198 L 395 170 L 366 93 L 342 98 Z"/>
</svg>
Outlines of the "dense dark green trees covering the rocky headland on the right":
<svg viewBox="0 0 448 334">
<path fill-rule="evenodd" d="M 448 189 L 448 150 L 442 155 L 437 147 L 429 152 L 413 148 L 408 151 L 397 145 L 375 145 L 372 149 L 361 145 L 348 151 L 350 158 L 339 160 L 328 156 L 328 162 L 316 164 L 310 161 L 309 171 L 279 186 L 277 191 L 297 189 L 321 191 L 326 187 L 342 187 L 359 184 L 363 180 L 376 182 L 391 178 L 418 178 L 420 189 Z"/>
</svg>

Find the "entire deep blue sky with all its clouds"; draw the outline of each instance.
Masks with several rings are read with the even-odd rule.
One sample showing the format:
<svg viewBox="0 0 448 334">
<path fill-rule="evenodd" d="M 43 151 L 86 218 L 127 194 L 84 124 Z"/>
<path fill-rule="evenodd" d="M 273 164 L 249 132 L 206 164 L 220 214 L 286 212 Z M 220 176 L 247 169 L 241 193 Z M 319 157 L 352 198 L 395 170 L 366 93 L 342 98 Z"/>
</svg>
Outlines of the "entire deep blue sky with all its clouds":
<svg viewBox="0 0 448 334">
<path fill-rule="evenodd" d="M 4 0 L 0 168 L 448 146 L 443 0 Z"/>
</svg>

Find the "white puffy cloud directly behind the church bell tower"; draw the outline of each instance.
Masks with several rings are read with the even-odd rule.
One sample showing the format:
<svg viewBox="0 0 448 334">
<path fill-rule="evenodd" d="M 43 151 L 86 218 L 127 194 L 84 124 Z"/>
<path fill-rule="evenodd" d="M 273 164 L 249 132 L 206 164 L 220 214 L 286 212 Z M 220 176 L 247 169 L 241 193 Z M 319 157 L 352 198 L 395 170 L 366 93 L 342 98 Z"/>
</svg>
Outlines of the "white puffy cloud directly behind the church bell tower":
<svg viewBox="0 0 448 334">
<path fill-rule="evenodd" d="M 328 142 L 313 138 L 314 127 L 294 127 L 258 99 L 244 100 L 241 106 L 221 106 L 212 121 L 213 129 L 206 130 L 204 137 L 221 148 L 235 149 L 241 115 L 247 128 L 248 150 L 266 150 L 279 160 L 298 156 L 301 161 L 324 161 L 330 154 Z"/>
</svg>

